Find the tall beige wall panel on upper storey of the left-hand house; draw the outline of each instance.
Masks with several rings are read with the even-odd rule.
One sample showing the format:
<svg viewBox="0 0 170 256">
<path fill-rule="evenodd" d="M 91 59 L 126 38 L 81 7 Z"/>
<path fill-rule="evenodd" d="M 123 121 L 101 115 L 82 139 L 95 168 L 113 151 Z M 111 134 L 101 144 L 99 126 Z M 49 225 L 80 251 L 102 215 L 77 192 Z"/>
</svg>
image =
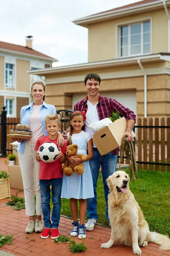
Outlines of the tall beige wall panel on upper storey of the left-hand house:
<svg viewBox="0 0 170 256">
<path fill-rule="evenodd" d="M 27 73 L 30 70 L 30 61 L 17 59 L 17 91 L 28 92 L 30 89 L 30 75 Z"/>
</svg>

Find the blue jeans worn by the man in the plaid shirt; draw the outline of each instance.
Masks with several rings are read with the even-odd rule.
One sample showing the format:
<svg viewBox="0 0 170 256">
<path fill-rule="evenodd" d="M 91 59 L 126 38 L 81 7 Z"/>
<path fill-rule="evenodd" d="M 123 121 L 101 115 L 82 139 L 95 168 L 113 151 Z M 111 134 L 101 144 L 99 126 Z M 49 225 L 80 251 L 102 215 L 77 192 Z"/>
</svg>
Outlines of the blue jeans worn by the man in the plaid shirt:
<svg viewBox="0 0 170 256">
<path fill-rule="evenodd" d="M 100 165 L 102 166 L 102 177 L 103 177 L 103 185 L 105 191 L 105 201 L 106 201 L 106 218 L 108 217 L 108 193 L 109 188 L 106 182 L 106 179 L 109 175 L 112 175 L 113 172 L 116 171 L 116 164 L 117 164 L 117 155 L 113 155 L 112 152 L 101 156 L 97 148 L 93 148 L 94 157 L 89 161 L 90 168 L 91 168 L 91 175 L 93 178 L 93 187 L 94 187 L 94 198 L 87 199 L 87 212 L 88 212 L 88 219 L 94 218 L 98 219 L 97 215 L 97 180 L 99 176 L 99 169 Z"/>
</svg>

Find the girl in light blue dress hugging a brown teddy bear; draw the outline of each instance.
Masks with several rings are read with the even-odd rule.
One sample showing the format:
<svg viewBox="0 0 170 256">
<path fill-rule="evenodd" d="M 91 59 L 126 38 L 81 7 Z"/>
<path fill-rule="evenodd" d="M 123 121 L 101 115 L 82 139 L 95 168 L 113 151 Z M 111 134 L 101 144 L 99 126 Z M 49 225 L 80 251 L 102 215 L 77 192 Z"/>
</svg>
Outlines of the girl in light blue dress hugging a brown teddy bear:
<svg viewBox="0 0 170 256">
<path fill-rule="evenodd" d="M 87 198 L 94 197 L 93 180 L 91 176 L 91 169 L 89 165 L 89 160 L 93 158 L 93 142 L 92 136 L 83 131 L 83 126 L 85 124 L 85 112 L 75 111 L 71 114 L 71 125 L 70 132 L 68 133 L 67 144 L 77 144 L 78 154 L 86 154 L 88 150 L 88 155 L 85 161 L 82 161 L 79 157 L 67 157 L 68 161 L 72 164 L 82 163 L 84 164 L 84 173 L 82 175 L 77 175 L 75 172 L 70 177 L 63 174 L 62 180 L 62 192 L 61 198 L 70 198 L 70 208 L 73 216 L 73 229 L 71 230 L 71 236 L 77 236 L 79 239 L 86 237 L 85 234 L 85 215 L 87 210 Z M 79 199 L 79 215 L 80 223 L 78 222 L 77 213 L 77 200 Z"/>
</svg>

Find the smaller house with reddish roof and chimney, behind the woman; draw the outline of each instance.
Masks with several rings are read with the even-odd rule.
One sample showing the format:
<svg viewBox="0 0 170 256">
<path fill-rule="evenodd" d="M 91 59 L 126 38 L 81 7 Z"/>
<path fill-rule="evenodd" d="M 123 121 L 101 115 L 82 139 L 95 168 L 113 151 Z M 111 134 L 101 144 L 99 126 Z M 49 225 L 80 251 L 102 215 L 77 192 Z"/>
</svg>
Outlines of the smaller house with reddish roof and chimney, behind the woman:
<svg viewBox="0 0 170 256">
<path fill-rule="evenodd" d="M 32 49 L 32 36 L 26 37 L 26 47 L 0 41 L 0 111 L 5 105 L 7 117 L 20 116 L 21 107 L 31 103 L 31 84 L 44 80 L 27 71 L 51 67 L 53 61 Z"/>
</svg>

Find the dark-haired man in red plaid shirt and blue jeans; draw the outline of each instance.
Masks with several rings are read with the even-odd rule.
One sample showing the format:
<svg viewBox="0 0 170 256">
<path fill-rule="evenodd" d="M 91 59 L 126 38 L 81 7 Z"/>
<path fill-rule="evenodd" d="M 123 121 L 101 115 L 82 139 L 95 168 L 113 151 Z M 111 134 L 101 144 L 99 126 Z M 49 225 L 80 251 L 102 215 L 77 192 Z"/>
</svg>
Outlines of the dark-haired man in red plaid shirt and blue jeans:
<svg viewBox="0 0 170 256">
<path fill-rule="evenodd" d="M 125 137 L 128 137 L 128 141 L 134 141 L 131 131 L 135 124 L 136 116 L 133 111 L 125 108 L 115 99 L 102 97 L 99 94 L 100 86 L 100 76 L 95 73 L 89 73 L 85 76 L 85 89 L 87 90 L 88 95 L 85 99 L 77 102 L 74 105 L 74 111 L 85 111 L 86 120 L 85 120 L 85 131 L 89 132 L 91 135 L 95 134 L 95 131 L 91 130 L 88 125 L 93 122 L 99 121 L 106 117 L 109 117 L 113 111 L 119 111 L 120 116 L 125 116 L 127 120 L 127 130 L 125 132 Z M 66 131 L 63 131 L 62 135 L 65 137 Z M 97 215 L 97 180 L 99 176 L 99 168 L 102 166 L 102 178 L 105 190 L 105 202 L 106 202 L 106 218 L 108 218 L 108 185 L 106 179 L 109 175 L 112 175 L 116 171 L 117 164 L 117 153 L 119 148 L 115 149 L 113 152 L 110 152 L 104 156 L 101 156 L 98 149 L 94 145 L 94 157 L 90 160 L 91 174 L 93 178 L 94 186 L 94 198 L 87 199 L 87 212 L 88 212 L 88 222 L 85 225 L 86 230 L 91 231 L 94 229 L 94 225 L 98 219 Z M 76 159 L 75 159 L 76 163 Z M 110 224 L 110 222 L 109 222 Z"/>
</svg>

